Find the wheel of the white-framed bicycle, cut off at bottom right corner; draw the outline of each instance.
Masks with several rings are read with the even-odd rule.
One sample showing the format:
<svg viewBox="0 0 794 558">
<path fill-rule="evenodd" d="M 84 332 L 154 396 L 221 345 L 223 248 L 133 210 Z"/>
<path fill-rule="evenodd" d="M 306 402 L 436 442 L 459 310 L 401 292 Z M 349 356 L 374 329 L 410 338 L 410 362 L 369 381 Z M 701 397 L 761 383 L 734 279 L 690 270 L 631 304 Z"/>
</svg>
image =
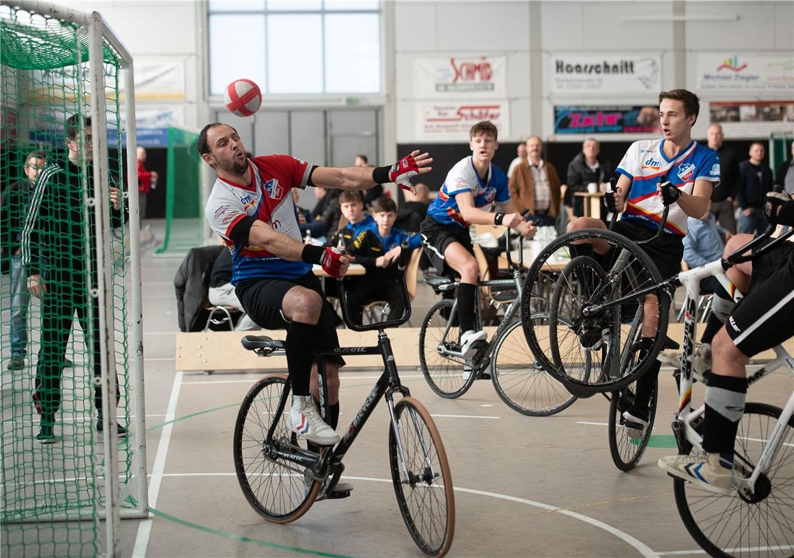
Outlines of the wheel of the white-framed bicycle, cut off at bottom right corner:
<svg viewBox="0 0 794 558">
<path fill-rule="evenodd" d="M 750 474 L 780 416 L 777 407 L 747 403 L 734 444 L 734 467 Z M 753 502 L 738 491 L 722 496 L 680 479 L 673 481 L 684 525 L 711 556 L 757 558 L 794 553 L 794 418 L 784 426 L 782 436 L 774 463 L 756 483 Z"/>
</svg>

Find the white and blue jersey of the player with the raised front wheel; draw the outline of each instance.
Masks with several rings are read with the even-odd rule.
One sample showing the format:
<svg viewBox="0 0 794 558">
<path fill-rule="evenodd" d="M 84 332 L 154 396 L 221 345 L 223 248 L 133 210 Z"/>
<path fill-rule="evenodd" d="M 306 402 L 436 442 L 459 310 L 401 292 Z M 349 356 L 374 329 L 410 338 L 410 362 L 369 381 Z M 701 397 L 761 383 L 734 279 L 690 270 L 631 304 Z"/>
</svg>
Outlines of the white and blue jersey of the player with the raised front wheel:
<svg viewBox="0 0 794 558">
<path fill-rule="evenodd" d="M 719 157 L 713 149 L 692 141 L 673 159 L 665 157 L 665 140 L 640 140 L 631 144 L 617 171 L 631 179 L 626 211 L 621 220 L 637 221 L 650 229 L 658 229 L 665 209 L 657 194 L 657 184 L 669 182 L 687 194 L 692 194 L 697 180 L 719 185 Z M 670 206 L 665 233 L 684 236 L 687 233 L 687 214 L 674 203 Z"/>
</svg>

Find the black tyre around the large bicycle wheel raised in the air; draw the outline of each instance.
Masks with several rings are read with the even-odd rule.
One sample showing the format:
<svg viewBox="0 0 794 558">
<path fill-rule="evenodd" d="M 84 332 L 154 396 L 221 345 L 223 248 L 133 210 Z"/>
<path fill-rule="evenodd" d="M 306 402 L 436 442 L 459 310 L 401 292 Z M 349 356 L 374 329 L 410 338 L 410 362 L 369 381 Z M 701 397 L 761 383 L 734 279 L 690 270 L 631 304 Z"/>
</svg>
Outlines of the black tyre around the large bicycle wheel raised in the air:
<svg viewBox="0 0 794 558">
<path fill-rule="evenodd" d="M 670 300 L 669 295 L 660 287 L 656 292 L 658 300 L 658 324 L 656 333 L 653 336 L 653 346 L 650 352 L 646 353 L 641 360 L 637 361 L 635 359 L 632 361 L 634 362 L 634 366 L 626 369 L 621 368 L 618 377 L 604 374 L 588 375 L 583 378 L 569 376 L 566 374 L 564 367 L 561 367 L 559 363 L 555 363 L 549 358 L 549 354 L 547 354 L 547 352 L 551 352 L 548 350 L 549 347 L 544 346 L 538 339 L 538 333 L 535 332 L 535 327 L 531 321 L 533 311 L 529 301 L 532 298 L 550 298 L 552 296 L 549 291 L 552 291 L 553 286 L 557 285 L 557 276 L 561 271 L 561 262 L 567 263 L 569 260 L 573 259 L 571 257 L 572 250 L 570 247 L 572 243 L 576 241 L 605 241 L 607 244 L 610 244 L 612 248 L 618 248 L 617 251 L 611 253 L 610 261 L 612 263 L 614 263 L 616 259 L 616 254 L 626 253 L 626 258 L 629 263 L 617 271 L 618 275 L 611 275 L 615 272 L 614 270 L 607 271 L 607 276 L 610 277 L 611 283 L 619 285 L 620 291 L 618 294 L 620 296 L 630 297 L 632 292 L 638 291 L 640 288 L 659 285 L 661 283 L 661 277 L 659 276 L 656 266 L 641 248 L 638 248 L 636 244 L 626 237 L 603 229 L 581 229 L 557 237 L 557 239 L 549 243 L 534 260 L 522 287 L 521 321 L 527 344 L 529 344 L 530 350 L 538 362 L 542 364 L 545 371 L 564 383 L 565 387 L 567 387 L 569 391 L 572 391 L 573 394 L 587 396 L 590 394 L 619 390 L 633 383 L 638 377 L 649 370 L 665 341 Z M 576 255 L 573 256 L 576 257 Z M 599 257 L 603 260 L 603 256 Z M 629 284 L 626 287 L 624 283 Z M 611 298 L 607 298 L 606 302 L 608 302 L 609 299 Z M 626 302 L 620 305 L 620 309 L 622 312 L 626 311 L 626 309 L 639 312 L 643 310 L 643 307 L 638 306 L 638 302 Z M 551 308 L 549 308 L 549 310 L 551 310 Z M 605 311 L 608 311 L 608 309 Z M 569 316 L 568 318 L 574 322 L 577 319 L 576 316 Z M 554 323 L 549 325 L 549 328 L 554 327 L 556 327 Z M 622 339 L 622 334 L 620 337 Z M 615 348 L 620 349 L 619 352 L 613 351 L 613 354 L 615 358 L 620 355 L 621 360 L 619 362 L 621 363 L 628 362 L 630 360 L 628 358 L 628 353 L 635 350 L 631 344 L 620 344 L 620 339 L 615 340 Z M 604 356 L 601 362 L 604 362 L 606 359 L 607 356 Z"/>
</svg>

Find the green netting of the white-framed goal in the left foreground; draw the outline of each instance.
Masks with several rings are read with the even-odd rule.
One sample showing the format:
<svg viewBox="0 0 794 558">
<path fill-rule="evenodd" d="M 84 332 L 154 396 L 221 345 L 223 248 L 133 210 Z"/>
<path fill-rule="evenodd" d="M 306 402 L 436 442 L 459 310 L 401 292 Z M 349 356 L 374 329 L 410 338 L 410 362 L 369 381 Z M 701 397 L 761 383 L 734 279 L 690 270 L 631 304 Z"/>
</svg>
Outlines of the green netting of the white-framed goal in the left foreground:
<svg viewBox="0 0 794 558">
<path fill-rule="evenodd" d="M 0 554 L 96 556 L 104 461 L 118 460 L 118 482 L 127 483 L 133 452 L 121 441 L 117 455 L 106 455 L 97 431 L 99 224 L 89 201 L 92 167 L 75 157 L 91 152 L 85 120 L 91 114 L 87 35 L 78 25 L 10 6 L 0 6 L 0 16 Z M 118 141 L 120 66 L 106 44 L 109 183 L 126 195 Z M 123 208 L 111 210 L 111 226 L 114 233 L 104 241 L 112 252 L 114 321 L 109 329 L 115 337 L 108 341 L 115 362 L 110 371 L 118 375 L 118 422 L 127 426 L 129 274 Z M 46 290 L 30 297 L 29 283 Z M 118 489 L 115 480 L 113 487 Z"/>
</svg>

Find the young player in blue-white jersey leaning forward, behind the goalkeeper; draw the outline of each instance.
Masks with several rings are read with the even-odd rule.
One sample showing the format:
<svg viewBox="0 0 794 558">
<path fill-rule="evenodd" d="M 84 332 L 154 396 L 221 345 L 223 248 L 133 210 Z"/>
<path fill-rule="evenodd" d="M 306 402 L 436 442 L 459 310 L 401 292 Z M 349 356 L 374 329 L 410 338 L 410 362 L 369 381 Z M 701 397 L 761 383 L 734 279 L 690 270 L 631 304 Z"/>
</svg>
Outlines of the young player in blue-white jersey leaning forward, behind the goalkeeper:
<svg viewBox="0 0 794 558">
<path fill-rule="evenodd" d="M 496 126 L 478 122 L 468 133 L 472 155 L 461 159 L 446 176 L 438 197 L 427 209 L 422 222 L 422 243 L 430 262 L 440 274 L 457 272 L 457 314 L 461 328 L 461 352 L 471 356 L 477 341 L 485 340 L 484 331 L 474 329 L 474 301 L 479 268 L 474 258 L 470 225 L 506 225 L 525 238 L 532 238 L 535 227 L 524 221 L 511 202 L 507 176 L 491 164 L 499 147 Z M 499 209 L 489 213 L 481 208 L 496 203 Z"/>
</svg>

